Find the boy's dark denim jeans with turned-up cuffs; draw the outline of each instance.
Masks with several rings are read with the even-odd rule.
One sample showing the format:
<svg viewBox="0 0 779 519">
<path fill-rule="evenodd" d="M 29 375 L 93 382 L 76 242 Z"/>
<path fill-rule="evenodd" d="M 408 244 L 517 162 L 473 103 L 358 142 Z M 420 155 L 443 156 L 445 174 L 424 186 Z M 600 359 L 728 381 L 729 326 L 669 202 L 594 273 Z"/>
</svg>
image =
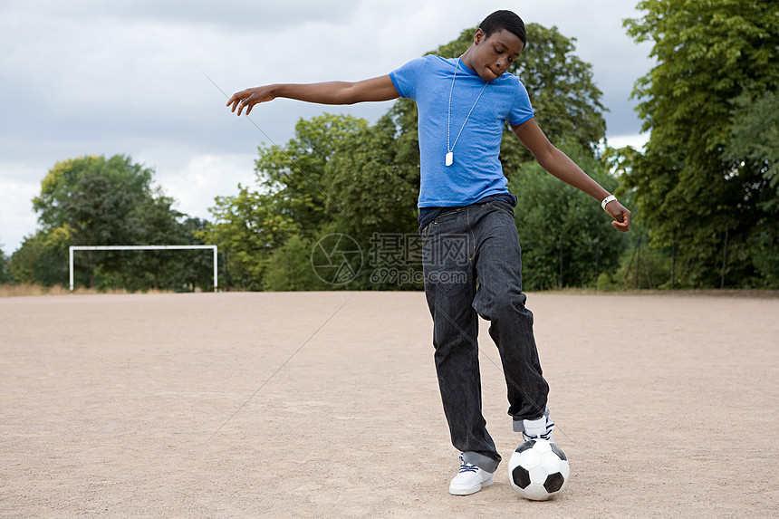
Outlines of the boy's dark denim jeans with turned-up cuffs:
<svg viewBox="0 0 779 519">
<path fill-rule="evenodd" d="M 540 418 L 543 379 L 525 308 L 514 209 L 501 201 L 452 207 L 421 231 L 425 293 L 433 316 L 438 387 L 452 444 L 468 463 L 495 472 L 501 457 L 482 415 L 478 316 L 490 322 L 508 389 L 508 414 Z"/>
</svg>

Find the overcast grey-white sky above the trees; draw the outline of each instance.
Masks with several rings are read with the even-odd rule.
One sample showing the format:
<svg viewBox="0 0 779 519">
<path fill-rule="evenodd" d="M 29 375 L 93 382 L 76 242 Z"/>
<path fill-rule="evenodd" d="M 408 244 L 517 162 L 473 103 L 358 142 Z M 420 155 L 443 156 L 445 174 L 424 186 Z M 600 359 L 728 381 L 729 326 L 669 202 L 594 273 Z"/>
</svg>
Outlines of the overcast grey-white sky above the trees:
<svg viewBox="0 0 779 519">
<path fill-rule="evenodd" d="M 649 72 L 651 48 L 622 28 L 640 15 L 637 3 L 0 0 L 0 244 L 10 255 L 34 233 L 31 199 L 58 160 L 130 155 L 156 170 L 178 210 L 208 218 L 214 197 L 253 182 L 256 147 L 284 145 L 301 118 L 330 111 L 372 122 L 391 105 L 276 100 L 252 111 L 265 137 L 230 114 L 204 73 L 227 94 L 269 82 L 375 77 L 496 9 L 576 38 L 575 53 L 592 64 L 610 110 L 610 144 L 640 146 L 630 92 Z"/>
</svg>

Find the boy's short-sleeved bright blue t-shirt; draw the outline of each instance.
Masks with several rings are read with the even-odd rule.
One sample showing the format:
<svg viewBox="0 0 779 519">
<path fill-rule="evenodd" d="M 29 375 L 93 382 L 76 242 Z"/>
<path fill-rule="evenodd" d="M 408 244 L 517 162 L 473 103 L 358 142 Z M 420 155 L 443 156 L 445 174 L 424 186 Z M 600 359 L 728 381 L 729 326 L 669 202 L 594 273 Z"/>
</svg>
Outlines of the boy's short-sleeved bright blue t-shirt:
<svg viewBox="0 0 779 519">
<path fill-rule="evenodd" d="M 417 102 L 421 160 L 418 207 L 467 206 L 484 197 L 508 193 L 498 160 L 505 122 L 518 125 L 533 117 L 519 78 L 505 72 L 485 87 L 485 81 L 461 60 L 432 55 L 406 63 L 389 77 L 400 97 Z M 455 148 L 454 162 L 447 166 L 450 91 L 449 146 Z"/>
</svg>

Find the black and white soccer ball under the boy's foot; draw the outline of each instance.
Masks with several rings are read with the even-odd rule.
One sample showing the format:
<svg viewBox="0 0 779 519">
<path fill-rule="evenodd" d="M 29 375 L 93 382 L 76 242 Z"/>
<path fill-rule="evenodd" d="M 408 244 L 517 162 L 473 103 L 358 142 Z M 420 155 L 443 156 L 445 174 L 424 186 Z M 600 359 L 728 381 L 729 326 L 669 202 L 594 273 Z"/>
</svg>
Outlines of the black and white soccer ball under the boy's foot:
<svg viewBox="0 0 779 519">
<path fill-rule="evenodd" d="M 527 499 L 543 501 L 557 494 L 568 481 L 568 458 L 545 439 L 531 439 L 508 461 L 508 478 L 514 489 Z"/>
</svg>

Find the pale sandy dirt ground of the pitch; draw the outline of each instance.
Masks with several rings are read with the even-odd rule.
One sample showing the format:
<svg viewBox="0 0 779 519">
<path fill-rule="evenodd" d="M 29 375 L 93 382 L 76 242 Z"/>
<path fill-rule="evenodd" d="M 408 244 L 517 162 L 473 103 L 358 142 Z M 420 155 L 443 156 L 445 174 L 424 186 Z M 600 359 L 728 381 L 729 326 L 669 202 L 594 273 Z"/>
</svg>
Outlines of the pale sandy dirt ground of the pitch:
<svg viewBox="0 0 779 519">
<path fill-rule="evenodd" d="M 483 322 L 495 485 L 448 495 L 422 293 L 0 300 L 0 517 L 776 517 L 779 299 L 529 295 L 557 443 L 549 502 Z"/>
</svg>

